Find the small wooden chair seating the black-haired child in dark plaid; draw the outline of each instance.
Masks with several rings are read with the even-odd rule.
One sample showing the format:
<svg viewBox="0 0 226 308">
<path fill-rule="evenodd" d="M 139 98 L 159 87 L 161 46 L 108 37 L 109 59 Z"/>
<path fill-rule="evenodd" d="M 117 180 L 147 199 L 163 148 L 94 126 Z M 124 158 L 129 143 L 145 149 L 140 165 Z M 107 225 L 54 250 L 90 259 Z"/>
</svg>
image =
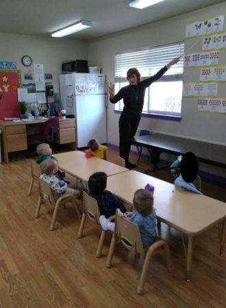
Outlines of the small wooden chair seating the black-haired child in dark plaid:
<svg viewBox="0 0 226 308">
<path fill-rule="evenodd" d="M 93 198 L 92 196 L 89 196 L 86 194 L 86 192 L 83 192 L 83 214 L 81 216 L 81 224 L 79 227 L 79 231 L 77 233 L 78 238 L 82 238 L 83 236 L 83 230 L 84 230 L 84 225 L 86 222 L 86 217 L 90 218 L 93 222 L 96 224 L 99 224 L 99 216 L 100 216 L 100 211 L 99 211 L 99 206 L 97 203 L 97 200 Z M 111 216 L 108 218 L 109 220 L 114 220 L 114 216 Z M 102 255 L 102 248 L 103 248 L 103 241 L 105 239 L 105 233 L 107 231 L 104 231 L 101 229 L 101 236 L 99 238 L 99 244 L 97 247 L 97 252 L 96 252 L 96 257 L 101 257 Z"/>
</svg>

